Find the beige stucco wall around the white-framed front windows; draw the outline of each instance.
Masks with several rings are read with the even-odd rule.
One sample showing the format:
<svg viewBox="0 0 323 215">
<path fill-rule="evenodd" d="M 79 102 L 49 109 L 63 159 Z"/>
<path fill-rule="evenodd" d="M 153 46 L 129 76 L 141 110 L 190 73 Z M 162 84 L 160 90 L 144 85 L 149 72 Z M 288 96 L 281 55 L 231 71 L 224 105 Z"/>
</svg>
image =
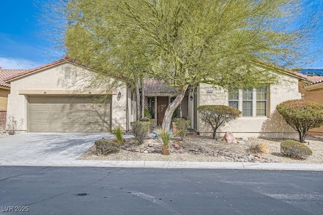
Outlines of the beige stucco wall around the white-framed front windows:
<svg viewBox="0 0 323 215">
<path fill-rule="evenodd" d="M 276 111 L 276 105 L 289 100 L 300 99 L 301 94 L 298 92 L 298 79 L 288 76 L 280 77 L 280 83 L 270 86 L 270 95 L 268 96 L 268 112 L 270 117 L 240 117 L 235 121 L 220 128 L 218 131 L 231 131 L 235 137 L 297 137 L 295 130 L 287 125 L 280 114 Z M 207 93 L 207 89 L 212 89 L 210 85 L 200 84 L 198 87 L 198 106 L 204 104 L 222 104 L 228 105 L 228 92 L 224 88 L 213 89 L 212 93 Z M 206 126 L 197 119 L 197 130 L 210 132 L 210 127 Z M 223 133 L 219 134 L 220 136 Z"/>
</svg>

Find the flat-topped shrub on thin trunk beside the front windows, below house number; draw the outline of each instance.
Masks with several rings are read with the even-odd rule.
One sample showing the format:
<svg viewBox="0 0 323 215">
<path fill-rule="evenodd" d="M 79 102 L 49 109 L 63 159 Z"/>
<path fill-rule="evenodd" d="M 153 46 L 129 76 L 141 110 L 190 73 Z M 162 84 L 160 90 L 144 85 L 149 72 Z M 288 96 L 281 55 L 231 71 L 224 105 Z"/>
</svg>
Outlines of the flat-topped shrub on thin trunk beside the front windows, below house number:
<svg viewBox="0 0 323 215">
<path fill-rule="evenodd" d="M 201 105 L 197 108 L 201 120 L 211 126 L 213 139 L 217 137 L 217 130 L 220 126 L 240 117 L 241 111 L 226 105 Z"/>
</svg>

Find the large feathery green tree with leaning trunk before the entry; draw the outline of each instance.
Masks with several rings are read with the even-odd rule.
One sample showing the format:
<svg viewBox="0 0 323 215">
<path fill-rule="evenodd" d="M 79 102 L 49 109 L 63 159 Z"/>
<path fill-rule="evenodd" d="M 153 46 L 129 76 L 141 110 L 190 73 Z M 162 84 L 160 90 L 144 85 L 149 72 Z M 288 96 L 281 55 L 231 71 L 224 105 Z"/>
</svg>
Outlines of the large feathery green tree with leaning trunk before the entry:
<svg viewBox="0 0 323 215">
<path fill-rule="evenodd" d="M 178 88 L 163 128 L 189 85 L 276 82 L 263 63 L 288 65 L 308 47 L 301 0 L 68 1 L 68 55 L 105 77 L 155 77 Z M 303 18 L 303 17 L 302 17 Z M 306 20 L 307 21 L 307 20 Z M 305 22 L 304 22 L 305 23 Z M 309 22 L 310 23 L 310 22 Z M 169 82 L 171 80 L 171 82 Z"/>
</svg>

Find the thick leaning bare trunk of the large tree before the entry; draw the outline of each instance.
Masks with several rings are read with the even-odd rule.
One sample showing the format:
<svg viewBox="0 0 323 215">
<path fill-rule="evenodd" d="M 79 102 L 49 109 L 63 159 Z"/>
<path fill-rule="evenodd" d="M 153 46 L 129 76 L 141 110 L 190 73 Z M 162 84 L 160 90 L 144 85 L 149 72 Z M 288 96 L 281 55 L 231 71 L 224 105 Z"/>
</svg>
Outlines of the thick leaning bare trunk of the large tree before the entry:
<svg viewBox="0 0 323 215">
<path fill-rule="evenodd" d="M 169 130 L 171 127 L 172 116 L 178 105 L 182 102 L 186 89 L 188 85 L 185 85 L 177 94 L 176 98 L 172 103 L 170 103 L 166 109 L 163 124 L 161 125 L 161 129 Z"/>
</svg>

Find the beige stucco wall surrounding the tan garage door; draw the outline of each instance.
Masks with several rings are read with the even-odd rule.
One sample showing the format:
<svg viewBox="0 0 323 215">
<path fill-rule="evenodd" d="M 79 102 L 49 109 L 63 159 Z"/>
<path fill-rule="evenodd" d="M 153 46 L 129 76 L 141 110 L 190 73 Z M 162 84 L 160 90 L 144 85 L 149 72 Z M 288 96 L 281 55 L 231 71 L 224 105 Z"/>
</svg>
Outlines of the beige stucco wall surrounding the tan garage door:
<svg viewBox="0 0 323 215">
<path fill-rule="evenodd" d="M 71 78 L 64 78 L 64 68 L 71 67 Z M 35 92 L 53 90 L 78 90 L 84 89 L 89 85 L 88 80 L 92 72 L 83 67 L 71 63 L 64 63 L 45 69 L 43 71 L 16 79 L 11 81 L 11 93 L 8 95 L 8 110 L 9 115 L 14 116 L 16 119 L 23 119 L 24 123 L 21 130 L 27 130 L 27 97 L 28 95 L 19 94 L 19 91 Z M 87 91 L 99 91 L 99 89 L 112 90 L 109 86 L 95 86 L 93 89 L 89 88 Z M 117 94 L 112 95 L 112 127 L 120 125 L 124 130 L 126 129 L 126 99 L 127 87 L 120 83 L 114 89 L 117 93 L 121 92 L 121 98 Z M 62 93 L 62 92 L 60 92 Z"/>
</svg>

